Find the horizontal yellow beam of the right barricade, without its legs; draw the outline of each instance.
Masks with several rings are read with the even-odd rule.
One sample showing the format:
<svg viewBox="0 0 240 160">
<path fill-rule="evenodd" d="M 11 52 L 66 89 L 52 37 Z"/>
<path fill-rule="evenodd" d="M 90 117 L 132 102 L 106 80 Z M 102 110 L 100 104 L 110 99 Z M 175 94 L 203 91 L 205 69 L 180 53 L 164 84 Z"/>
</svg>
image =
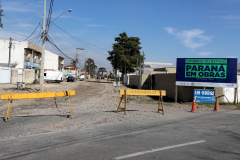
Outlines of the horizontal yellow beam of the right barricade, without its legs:
<svg viewBox="0 0 240 160">
<path fill-rule="evenodd" d="M 162 96 L 166 96 L 166 91 L 162 91 Z M 127 89 L 127 95 L 135 95 L 135 96 L 159 96 L 160 90 L 138 90 L 138 89 Z M 124 95 L 124 89 L 120 89 L 120 95 Z"/>
</svg>

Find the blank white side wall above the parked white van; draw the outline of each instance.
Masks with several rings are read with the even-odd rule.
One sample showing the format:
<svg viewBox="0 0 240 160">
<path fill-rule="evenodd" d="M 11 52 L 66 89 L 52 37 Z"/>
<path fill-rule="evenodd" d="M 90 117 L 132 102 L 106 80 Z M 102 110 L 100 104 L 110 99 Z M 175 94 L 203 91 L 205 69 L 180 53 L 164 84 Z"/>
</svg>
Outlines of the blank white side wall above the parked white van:
<svg viewBox="0 0 240 160">
<path fill-rule="evenodd" d="M 58 55 L 46 50 L 44 69 L 58 70 Z"/>
</svg>

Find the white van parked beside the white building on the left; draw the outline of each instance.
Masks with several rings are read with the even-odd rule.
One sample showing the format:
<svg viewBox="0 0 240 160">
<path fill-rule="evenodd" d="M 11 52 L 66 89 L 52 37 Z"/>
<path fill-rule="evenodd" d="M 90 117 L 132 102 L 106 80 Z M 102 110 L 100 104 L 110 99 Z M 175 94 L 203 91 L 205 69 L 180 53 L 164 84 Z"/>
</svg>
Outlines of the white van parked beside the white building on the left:
<svg viewBox="0 0 240 160">
<path fill-rule="evenodd" d="M 63 81 L 63 73 L 61 71 L 46 71 L 44 72 L 44 81 L 47 83 L 55 82 L 60 83 Z"/>
</svg>

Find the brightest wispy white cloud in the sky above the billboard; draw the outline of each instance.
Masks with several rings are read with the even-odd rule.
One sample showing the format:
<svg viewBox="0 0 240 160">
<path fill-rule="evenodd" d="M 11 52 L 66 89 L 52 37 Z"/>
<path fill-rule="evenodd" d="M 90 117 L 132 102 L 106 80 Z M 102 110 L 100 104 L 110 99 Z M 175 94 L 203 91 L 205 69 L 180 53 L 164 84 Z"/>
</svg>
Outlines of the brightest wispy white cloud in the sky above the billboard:
<svg viewBox="0 0 240 160">
<path fill-rule="evenodd" d="M 172 27 L 167 27 L 165 30 L 182 40 L 182 43 L 192 49 L 196 49 L 202 47 L 211 41 L 210 36 L 205 36 L 204 31 L 200 29 L 192 29 L 192 30 L 184 30 L 184 31 L 177 31 Z"/>
</svg>

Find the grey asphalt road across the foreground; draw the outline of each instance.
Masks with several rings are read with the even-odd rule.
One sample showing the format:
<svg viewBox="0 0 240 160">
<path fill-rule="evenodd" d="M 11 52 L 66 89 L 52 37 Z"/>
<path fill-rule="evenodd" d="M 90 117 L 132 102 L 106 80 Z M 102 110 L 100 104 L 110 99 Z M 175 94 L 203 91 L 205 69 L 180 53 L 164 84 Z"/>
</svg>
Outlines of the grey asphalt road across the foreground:
<svg viewBox="0 0 240 160">
<path fill-rule="evenodd" d="M 220 111 L 30 135 L 0 141 L 0 159 L 239 160 L 239 124 L 240 111 Z"/>
</svg>

